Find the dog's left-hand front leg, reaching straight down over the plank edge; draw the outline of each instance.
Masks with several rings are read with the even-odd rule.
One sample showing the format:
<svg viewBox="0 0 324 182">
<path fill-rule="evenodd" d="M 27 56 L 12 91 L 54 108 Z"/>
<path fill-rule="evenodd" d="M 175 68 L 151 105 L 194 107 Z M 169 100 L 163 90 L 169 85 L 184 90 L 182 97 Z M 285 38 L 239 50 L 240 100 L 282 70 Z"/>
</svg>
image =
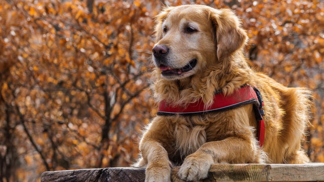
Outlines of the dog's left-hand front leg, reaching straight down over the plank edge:
<svg viewBox="0 0 324 182">
<path fill-rule="evenodd" d="M 143 139 L 140 150 L 144 161 L 147 161 L 145 182 L 171 181 L 171 163 L 168 153 L 161 143 L 153 139 Z"/>
</svg>

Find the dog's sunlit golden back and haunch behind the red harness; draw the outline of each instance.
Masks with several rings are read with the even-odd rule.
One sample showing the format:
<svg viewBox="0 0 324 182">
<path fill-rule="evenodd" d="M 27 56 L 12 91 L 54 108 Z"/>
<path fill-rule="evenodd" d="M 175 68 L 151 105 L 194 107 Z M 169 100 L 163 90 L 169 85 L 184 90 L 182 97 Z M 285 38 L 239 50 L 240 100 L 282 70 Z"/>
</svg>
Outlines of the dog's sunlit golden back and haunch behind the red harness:
<svg viewBox="0 0 324 182">
<path fill-rule="evenodd" d="M 285 87 L 265 74 L 255 78 L 263 93 L 265 136 L 264 151 L 269 163 L 303 164 L 309 158 L 301 149 L 309 126 L 311 92 L 300 87 Z"/>
</svg>

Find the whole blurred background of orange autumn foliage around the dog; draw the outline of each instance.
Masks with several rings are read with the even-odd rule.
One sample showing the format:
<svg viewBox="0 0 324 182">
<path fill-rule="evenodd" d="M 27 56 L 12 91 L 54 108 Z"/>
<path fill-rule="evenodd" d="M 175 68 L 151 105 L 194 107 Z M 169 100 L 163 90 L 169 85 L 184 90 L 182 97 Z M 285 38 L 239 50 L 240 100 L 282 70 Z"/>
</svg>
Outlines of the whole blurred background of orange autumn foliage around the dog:
<svg viewBox="0 0 324 182">
<path fill-rule="evenodd" d="M 193 3 L 234 9 L 250 65 L 313 90 L 304 148 L 324 162 L 323 0 L 1 0 L 0 182 L 134 162 L 157 111 L 146 89 L 152 17 Z"/>
</svg>

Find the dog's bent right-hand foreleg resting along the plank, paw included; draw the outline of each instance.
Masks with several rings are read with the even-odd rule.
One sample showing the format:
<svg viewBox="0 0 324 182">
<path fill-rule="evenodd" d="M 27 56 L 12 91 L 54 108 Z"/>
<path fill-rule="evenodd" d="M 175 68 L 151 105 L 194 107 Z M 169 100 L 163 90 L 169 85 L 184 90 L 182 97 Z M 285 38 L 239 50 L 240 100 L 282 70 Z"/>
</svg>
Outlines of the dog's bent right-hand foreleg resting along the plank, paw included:
<svg viewBox="0 0 324 182">
<path fill-rule="evenodd" d="M 257 148 L 250 140 L 238 137 L 207 142 L 185 158 L 178 176 L 185 181 L 198 181 L 207 177 L 210 166 L 215 163 L 257 163 L 260 161 Z"/>
</svg>

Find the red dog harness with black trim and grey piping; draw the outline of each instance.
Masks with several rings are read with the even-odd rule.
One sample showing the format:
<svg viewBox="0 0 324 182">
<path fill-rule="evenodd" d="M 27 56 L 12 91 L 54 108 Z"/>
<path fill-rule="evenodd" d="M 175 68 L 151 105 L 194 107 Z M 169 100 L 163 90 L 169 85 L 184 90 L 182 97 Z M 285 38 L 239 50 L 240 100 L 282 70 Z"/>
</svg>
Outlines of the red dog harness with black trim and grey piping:
<svg viewBox="0 0 324 182">
<path fill-rule="evenodd" d="M 255 86 L 243 85 L 240 89 L 235 90 L 233 94 L 228 96 L 224 96 L 221 91 L 216 92 L 213 105 L 207 109 L 202 99 L 190 103 L 187 107 L 174 107 L 163 100 L 159 103 L 157 115 L 197 115 L 230 110 L 248 104 L 253 104 L 255 117 L 258 122 L 257 139 L 259 145 L 262 147 L 264 142 L 264 121 L 262 119 L 262 116 L 264 116 L 264 110 L 262 109 L 263 101 L 260 91 Z"/>
</svg>

